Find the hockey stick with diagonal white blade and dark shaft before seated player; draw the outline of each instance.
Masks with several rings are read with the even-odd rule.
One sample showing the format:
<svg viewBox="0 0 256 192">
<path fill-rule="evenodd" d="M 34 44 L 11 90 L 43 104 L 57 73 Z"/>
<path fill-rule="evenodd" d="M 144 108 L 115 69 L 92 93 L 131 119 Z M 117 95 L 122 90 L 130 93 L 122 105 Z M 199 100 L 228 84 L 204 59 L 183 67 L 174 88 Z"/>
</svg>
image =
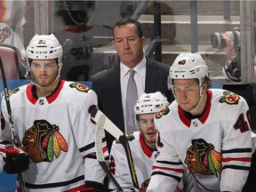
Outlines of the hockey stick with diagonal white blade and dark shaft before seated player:
<svg viewBox="0 0 256 192">
<path fill-rule="evenodd" d="M 139 183 L 138 183 L 138 180 L 137 180 L 137 175 L 136 175 L 135 167 L 134 167 L 133 160 L 132 160 L 131 148 L 130 148 L 129 143 L 128 143 L 128 140 L 129 140 L 128 139 L 128 134 L 124 134 L 124 132 L 119 130 L 116 127 L 116 124 L 113 124 L 108 119 L 108 117 L 105 116 L 105 114 L 103 114 L 100 111 L 100 109 L 98 109 L 98 108 L 92 108 L 91 116 L 92 116 L 92 120 L 97 123 L 97 126 L 103 126 L 104 129 L 107 132 L 112 134 L 116 138 L 116 140 L 119 140 L 120 143 L 123 145 L 124 151 L 125 151 L 125 154 L 126 154 L 126 157 L 127 157 L 127 161 L 128 161 L 128 164 L 129 164 L 129 169 L 130 169 L 130 172 L 131 172 L 131 176 L 132 176 L 133 187 L 136 188 L 136 189 L 139 189 Z M 102 116 L 104 116 L 104 118 Z M 98 124 L 99 122 L 100 122 L 101 125 Z"/>
</svg>

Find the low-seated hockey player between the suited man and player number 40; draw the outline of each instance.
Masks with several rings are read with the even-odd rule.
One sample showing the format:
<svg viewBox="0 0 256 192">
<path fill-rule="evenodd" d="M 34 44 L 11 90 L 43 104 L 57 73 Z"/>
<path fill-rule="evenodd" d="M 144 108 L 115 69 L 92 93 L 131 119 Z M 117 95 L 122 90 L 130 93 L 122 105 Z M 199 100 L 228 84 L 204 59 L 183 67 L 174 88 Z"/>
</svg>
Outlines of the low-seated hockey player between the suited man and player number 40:
<svg viewBox="0 0 256 192">
<path fill-rule="evenodd" d="M 134 107 L 134 123 L 140 129 L 140 132 L 132 133 L 134 139 L 129 144 L 132 150 L 132 158 L 140 191 L 146 191 L 152 165 L 156 162 L 156 156 L 159 154 L 156 150 L 156 126 L 154 124 L 154 117 L 157 112 L 168 104 L 169 102 L 164 94 L 154 92 L 143 93 Z M 112 145 L 109 169 L 124 191 L 133 191 L 134 188 L 127 158 L 122 144 L 118 141 L 114 141 Z M 176 191 L 183 189 L 181 184 Z M 109 183 L 109 189 L 115 189 L 112 183 Z"/>
</svg>

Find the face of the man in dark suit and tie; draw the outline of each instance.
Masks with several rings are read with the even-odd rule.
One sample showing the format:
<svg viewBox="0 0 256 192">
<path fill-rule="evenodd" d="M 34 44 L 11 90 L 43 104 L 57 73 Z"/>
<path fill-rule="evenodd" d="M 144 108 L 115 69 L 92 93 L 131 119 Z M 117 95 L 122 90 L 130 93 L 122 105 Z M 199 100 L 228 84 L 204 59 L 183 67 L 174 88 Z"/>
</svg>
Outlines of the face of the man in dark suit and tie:
<svg viewBox="0 0 256 192">
<path fill-rule="evenodd" d="M 136 26 L 132 23 L 114 28 L 114 36 L 113 44 L 119 59 L 128 68 L 134 68 L 143 58 L 145 36 L 140 38 Z"/>
</svg>

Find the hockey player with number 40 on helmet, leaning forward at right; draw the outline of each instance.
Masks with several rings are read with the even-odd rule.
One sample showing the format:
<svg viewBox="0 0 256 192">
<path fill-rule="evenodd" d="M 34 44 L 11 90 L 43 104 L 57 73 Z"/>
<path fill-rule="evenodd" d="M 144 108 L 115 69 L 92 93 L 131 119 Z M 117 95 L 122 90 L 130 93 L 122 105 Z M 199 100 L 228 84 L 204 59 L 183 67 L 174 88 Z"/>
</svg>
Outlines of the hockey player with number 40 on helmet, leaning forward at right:
<svg viewBox="0 0 256 192">
<path fill-rule="evenodd" d="M 170 68 L 176 100 L 155 119 L 160 154 L 147 192 L 173 191 L 185 168 L 196 191 L 242 191 L 252 160 L 249 108 L 241 96 L 209 84 L 201 55 L 180 53 Z"/>
</svg>

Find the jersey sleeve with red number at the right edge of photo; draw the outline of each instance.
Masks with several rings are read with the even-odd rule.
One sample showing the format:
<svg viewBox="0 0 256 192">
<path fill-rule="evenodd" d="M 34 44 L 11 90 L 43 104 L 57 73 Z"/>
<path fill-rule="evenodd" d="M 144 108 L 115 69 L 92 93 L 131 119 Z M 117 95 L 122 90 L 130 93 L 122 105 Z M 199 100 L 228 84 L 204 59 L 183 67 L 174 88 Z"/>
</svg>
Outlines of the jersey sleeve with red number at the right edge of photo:
<svg viewBox="0 0 256 192">
<path fill-rule="evenodd" d="M 233 122 L 223 132 L 221 191 L 242 191 L 252 160 L 249 108 L 243 98 L 240 98 L 236 111 Z"/>
</svg>

